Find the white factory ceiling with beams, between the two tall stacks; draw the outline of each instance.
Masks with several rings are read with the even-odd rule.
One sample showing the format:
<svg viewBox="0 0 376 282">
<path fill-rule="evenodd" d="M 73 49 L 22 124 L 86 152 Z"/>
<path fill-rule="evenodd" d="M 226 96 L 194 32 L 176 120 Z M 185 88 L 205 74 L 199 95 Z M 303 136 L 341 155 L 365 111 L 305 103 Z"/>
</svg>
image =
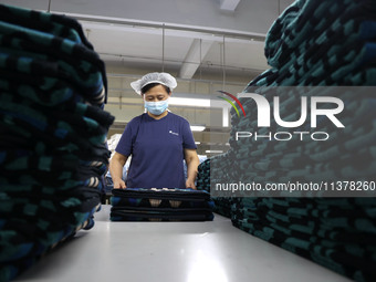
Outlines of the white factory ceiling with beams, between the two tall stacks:
<svg viewBox="0 0 376 282">
<path fill-rule="evenodd" d="M 0 0 L 20 7 L 49 8 L 48 0 Z M 269 69 L 263 38 L 292 0 L 51 0 L 51 10 L 83 24 L 111 63 L 135 69 L 166 69 L 185 79 L 198 71 L 237 75 Z M 233 7 L 232 12 L 220 7 Z M 255 41 L 251 41 L 251 36 Z M 224 36 L 224 61 L 222 41 Z M 197 42 L 211 42 L 199 46 Z M 196 44 L 194 43 L 196 42 Z M 200 63 L 201 65 L 198 65 Z M 195 73 L 196 72 L 196 73 Z"/>
</svg>

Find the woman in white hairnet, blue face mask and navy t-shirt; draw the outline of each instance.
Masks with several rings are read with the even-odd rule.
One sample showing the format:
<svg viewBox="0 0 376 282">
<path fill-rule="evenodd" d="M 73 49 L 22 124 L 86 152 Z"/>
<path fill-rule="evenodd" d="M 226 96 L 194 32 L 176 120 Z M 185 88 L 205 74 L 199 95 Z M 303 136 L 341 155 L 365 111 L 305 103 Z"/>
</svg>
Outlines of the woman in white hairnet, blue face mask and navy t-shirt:
<svg viewBox="0 0 376 282">
<path fill-rule="evenodd" d="M 126 126 L 109 163 L 114 189 L 192 188 L 199 158 L 188 121 L 168 111 L 177 86 L 168 73 L 148 73 L 130 86 L 144 100 L 146 113 Z M 126 182 L 123 166 L 132 155 Z M 187 178 L 184 161 L 187 163 Z"/>
</svg>

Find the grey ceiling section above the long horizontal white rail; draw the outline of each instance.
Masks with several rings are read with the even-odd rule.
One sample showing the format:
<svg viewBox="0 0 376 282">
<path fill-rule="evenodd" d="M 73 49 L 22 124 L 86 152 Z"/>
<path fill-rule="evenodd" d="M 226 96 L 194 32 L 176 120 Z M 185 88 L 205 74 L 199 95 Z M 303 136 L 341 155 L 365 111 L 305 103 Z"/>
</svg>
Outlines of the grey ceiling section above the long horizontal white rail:
<svg viewBox="0 0 376 282">
<path fill-rule="evenodd" d="M 51 10 L 264 34 L 278 14 L 278 1 L 243 0 L 234 13 L 223 12 L 218 0 L 51 0 Z"/>
</svg>

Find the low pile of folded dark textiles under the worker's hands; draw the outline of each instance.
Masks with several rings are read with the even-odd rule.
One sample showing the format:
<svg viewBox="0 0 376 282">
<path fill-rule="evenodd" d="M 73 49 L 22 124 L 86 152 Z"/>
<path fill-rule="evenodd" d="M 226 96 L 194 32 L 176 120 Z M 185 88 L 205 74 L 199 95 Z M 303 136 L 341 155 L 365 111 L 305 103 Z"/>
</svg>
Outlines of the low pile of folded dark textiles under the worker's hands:
<svg viewBox="0 0 376 282">
<path fill-rule="evenodd" d="M 112 221 L 210 221 L 213 202 L 194 189 L 113 189 Z"/>
</svg>

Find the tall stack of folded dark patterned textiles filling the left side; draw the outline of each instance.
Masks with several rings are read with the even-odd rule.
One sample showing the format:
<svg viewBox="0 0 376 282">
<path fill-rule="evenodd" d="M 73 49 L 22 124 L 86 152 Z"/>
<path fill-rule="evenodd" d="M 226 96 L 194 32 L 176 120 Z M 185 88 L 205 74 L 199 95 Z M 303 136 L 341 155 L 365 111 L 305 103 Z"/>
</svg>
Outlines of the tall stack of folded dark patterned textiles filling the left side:
<svg viewBox="0 0 376 282">
<path fill-rule="evenodd" d="M 77 21 L 0 4 L 0 280 L 91 229 L 100 209 L 106 75 Z"/>
</svg>

